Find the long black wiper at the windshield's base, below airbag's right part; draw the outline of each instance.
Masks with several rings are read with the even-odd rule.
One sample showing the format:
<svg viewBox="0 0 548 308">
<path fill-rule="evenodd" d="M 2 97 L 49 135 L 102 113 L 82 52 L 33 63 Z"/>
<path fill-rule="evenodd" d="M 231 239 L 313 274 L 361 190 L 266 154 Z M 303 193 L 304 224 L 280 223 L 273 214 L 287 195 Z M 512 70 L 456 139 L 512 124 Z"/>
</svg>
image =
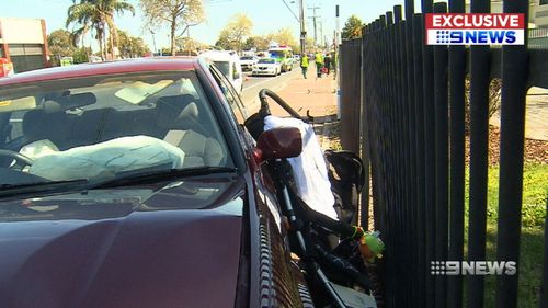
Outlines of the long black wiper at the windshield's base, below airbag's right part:
<svg viewBox="0 0 548 308">
<path fill-rule="evenodd" d="M 90 185 L 89 190 L 109 189 L 116 186 L 135 185 L 159 181 L 170 181 L 173 179 L 197 176 L 216 173 L 236 173 L 237 169 L 231 167 L 197 167 L 185 169 L 169 169 L 151 172 L 123 172 L 118 173 L 116 178 L 94 183 Z"/>
</svg>

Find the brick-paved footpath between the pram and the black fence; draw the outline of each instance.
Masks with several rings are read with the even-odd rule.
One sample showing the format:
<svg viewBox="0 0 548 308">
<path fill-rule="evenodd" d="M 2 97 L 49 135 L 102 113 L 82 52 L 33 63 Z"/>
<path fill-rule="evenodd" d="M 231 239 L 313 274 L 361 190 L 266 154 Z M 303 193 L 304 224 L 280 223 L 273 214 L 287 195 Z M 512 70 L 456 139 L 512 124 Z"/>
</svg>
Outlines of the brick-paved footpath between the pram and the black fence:
<svg viewBox="0 0 548 308">
<path fill-rule="evenodd" d="M 323 75 L 321 78 L 316 77 L 316 67 L 312 65 L 308 69 L 307 79 L 302 78 L 300 68 L 296 67 L 299 73 L 286 82 L 286 87 L 276 91 L 295 111 L 300 115 L 306 116 L 307 113 L 317 121 L 312 123 L 318 141 L 323 149 L 331 148 L 331 141 L 334 130 L 336 130 L 336 80 L 331 72 L 329 76 Z M 273 115 L 286 117 L 289 116 L 281 106 L 271 104 Z"/>
</svg>

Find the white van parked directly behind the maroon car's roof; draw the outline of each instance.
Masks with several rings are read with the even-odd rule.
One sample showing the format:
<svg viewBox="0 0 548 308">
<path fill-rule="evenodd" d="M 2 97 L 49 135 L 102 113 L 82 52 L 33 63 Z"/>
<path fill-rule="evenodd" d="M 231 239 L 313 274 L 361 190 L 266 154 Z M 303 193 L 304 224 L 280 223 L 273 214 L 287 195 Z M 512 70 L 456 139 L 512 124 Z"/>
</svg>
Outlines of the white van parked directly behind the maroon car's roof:
<svg viewBox="0 0 548 308">
<path fill-rule="evenodd" d="M 240 93 L 243 89 L 243 73 L 240 66 L 240 57 L 235 52 L 209 50 L 199 54 L 199 57 L 212 60 L 227 77 L 236 91 Z"/>
</svg>

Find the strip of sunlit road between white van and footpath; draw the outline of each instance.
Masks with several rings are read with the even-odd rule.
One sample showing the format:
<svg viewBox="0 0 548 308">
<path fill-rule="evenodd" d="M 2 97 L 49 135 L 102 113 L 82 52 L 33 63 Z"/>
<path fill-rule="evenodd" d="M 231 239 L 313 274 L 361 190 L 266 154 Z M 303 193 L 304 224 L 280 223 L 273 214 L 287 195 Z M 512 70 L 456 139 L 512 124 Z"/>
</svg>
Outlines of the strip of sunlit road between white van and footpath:
<svg viewBox="0 0 548 308">
<path fill-rule="evenodd" d="M 241 98 L 243 104 L 248 107 L 250 113 L 259 110 L 259 91 L 261 89 L 270 89 L 272 91 L 279 91 L 286 85 L 286 82 L 300 73 L 298 67 L 294 67 L 292 71 L 284 72 L 276 77 L 251 77 L 246 73 L 248 80 L 243 82 L 243 91 Z"/>
</svg>

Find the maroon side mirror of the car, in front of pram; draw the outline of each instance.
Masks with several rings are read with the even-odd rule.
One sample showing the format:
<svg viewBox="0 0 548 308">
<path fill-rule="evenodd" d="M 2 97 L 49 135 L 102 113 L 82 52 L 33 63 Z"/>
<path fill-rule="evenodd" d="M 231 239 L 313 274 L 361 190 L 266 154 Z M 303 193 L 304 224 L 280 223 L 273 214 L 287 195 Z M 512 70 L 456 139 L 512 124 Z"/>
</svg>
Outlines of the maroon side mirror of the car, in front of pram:
<svg viewBox="0 0 548 308">
<path fill-rule="evenodd" d="M 260 163 L 272 159 L 298 157 L 302 152 L 302 137 L 296 127 L 278 127 L 259 136 L 253 151 Z"/>
</svg>

